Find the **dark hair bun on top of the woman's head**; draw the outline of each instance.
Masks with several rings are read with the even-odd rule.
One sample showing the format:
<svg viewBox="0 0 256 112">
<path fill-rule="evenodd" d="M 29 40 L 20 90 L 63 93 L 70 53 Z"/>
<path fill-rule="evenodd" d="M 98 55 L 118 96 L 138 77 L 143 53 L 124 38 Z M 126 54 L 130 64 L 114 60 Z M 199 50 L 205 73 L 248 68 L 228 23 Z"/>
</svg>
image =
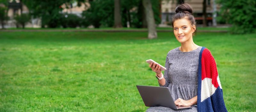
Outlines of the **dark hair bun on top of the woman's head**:
<svg viewBox="0 0 256 112">
<path fill-rule="evenodd" d="M 192 10 L 192 6 L 190 4 L 184 3 L 184 4 L 179 4 L 176 9 L 175 9 L 176 13 L 188 13 L 188 14 L 192 14 L 193 10 Z"/>
</svg>

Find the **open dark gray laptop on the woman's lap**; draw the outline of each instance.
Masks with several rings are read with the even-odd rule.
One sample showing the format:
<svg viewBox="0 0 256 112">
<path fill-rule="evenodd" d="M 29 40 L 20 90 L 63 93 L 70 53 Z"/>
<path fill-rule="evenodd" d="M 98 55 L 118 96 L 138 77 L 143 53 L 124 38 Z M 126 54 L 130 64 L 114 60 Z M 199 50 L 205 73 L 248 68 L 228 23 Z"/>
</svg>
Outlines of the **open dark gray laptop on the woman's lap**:
<svg viewBox="0 0 256 112">
<path fill-rule="evenodd" d="M 167 107 L 174 110 L 192 108 L 191 106 L 176 106 L 167 87 L 136 85 L 140 96 L 147 107 Z"/>
</svg>

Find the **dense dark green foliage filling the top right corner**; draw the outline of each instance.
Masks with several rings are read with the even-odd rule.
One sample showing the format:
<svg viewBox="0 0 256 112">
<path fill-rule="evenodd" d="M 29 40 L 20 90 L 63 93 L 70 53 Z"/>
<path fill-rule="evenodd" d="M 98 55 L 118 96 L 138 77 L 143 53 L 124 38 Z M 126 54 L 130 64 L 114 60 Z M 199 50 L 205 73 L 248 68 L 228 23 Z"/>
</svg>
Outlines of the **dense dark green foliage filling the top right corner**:
<svg viewBox="0 0 256 112">
<path fill-rule="evenodd" d="M 231 33 L 244 34 L 255 32 L 256 1 L 255 0 L 219 0 L 221 9 L 219 19 L 232 24 Z"/>
</svg>

